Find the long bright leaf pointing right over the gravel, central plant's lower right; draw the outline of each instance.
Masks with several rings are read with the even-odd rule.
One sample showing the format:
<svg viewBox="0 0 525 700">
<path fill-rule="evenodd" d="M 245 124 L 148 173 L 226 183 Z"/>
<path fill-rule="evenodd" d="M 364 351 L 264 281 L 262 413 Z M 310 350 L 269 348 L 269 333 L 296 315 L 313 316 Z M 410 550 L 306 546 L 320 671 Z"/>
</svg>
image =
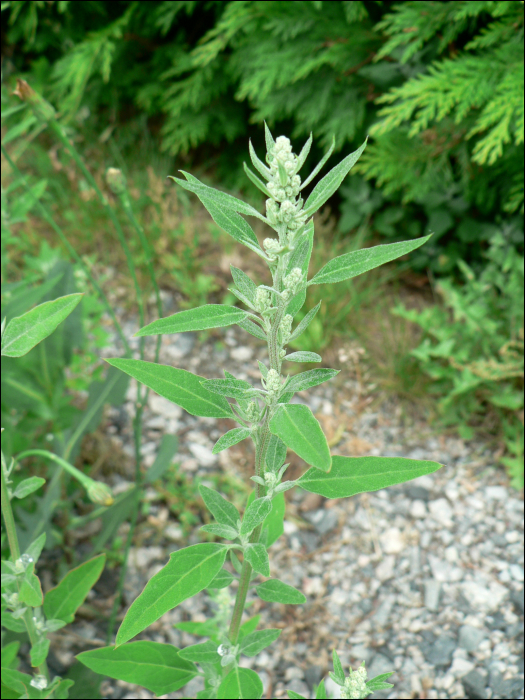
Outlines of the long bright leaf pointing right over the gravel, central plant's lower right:
<svg viewBox="0 0 525 700">
<path fill-rule="evenodd" d="M 377 491 L 393 484 L 431 474 L 443 465 L 405 457 L 332 457 L 332 470 L 322 474 L 309 469 L 297 486 L 326 498 L 345 498 Z"/>
</svg>

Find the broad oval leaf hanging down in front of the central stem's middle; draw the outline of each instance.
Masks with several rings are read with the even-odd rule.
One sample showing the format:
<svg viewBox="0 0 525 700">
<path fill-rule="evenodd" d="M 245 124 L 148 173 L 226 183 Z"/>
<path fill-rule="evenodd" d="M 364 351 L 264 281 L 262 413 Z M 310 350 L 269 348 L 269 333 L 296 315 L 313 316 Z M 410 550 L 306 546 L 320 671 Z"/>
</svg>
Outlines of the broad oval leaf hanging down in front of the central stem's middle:
<svg viewBox="0 0 525 700">
<path fill-rule="evenodd" d="M 325 472 L 330 470 L 330 448 L 308 406 L 280 405 L 270 421 L 270 430 L 305 462 Z"/>
</svg>

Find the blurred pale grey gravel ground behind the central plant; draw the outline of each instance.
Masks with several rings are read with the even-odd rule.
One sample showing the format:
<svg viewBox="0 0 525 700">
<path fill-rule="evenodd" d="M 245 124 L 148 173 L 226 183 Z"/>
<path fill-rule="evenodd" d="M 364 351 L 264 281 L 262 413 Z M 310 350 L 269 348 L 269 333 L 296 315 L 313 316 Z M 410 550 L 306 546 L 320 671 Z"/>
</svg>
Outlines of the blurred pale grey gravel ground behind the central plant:
<svg viewBox="0 0 525 700">
<path fill-rule="evenodd" d="M 137 327 L 128 322 L 126 336 Z M 164 337 L 160 362 L 207 378 L 223 376 L 228 369 L 238 378 L 257 379 L 256 357 L 264 360 L 266 355 L 259 341 L 237 327 L 219 333 L 227 346 L 220 350 L 214 339 L 199 344 L 191 333 Z M 153 342 L 147 346 L 149 360 Z M 104 350 L 106 357 L 115 354 Z M 407 424 L 395 402 L 374 401 L 377 391 L 367 384 L 359 348 L 343 347 L 330 359 L 323 366 L 342 370 L 336 380 L 297 394 L 294 401 L 312 408 L 333 453 L 405 456 L 445 466 L 430 476 L 351 499 L 288 491 L 285 535 L 270 550 L 272 576 L 301 589 L 307 603 L 270 604 L 251 594 L 250 615 L 261 613 L 262 628 L 282 627 L 283 632 L 256 659 L 244 658 L 241 665 L 260 673 L 267 698 L 287 697 L 287 690 L 313 697 L 313 686 L 332 670 L 334 647 L 344 666 L 366 661 L 369 677 L 395 671 L 390 679 L 394 689 L 371 697 L 523 698 L 521 495 L 509 487 L 501 469 L 493 468 L 496 457 L 484 444 L 436 437 L 424 421 Z M 133 396 L 132 381 L 130 400 L 110 412 L 108 427 L 115 447 L 129 456 Z M 233 427 L 230 421 L 195 418 L 150 393 L 144 424 L 146 466 L 153 463 L 162 434 L 170 432 L 180 436 L 176 460 L 183 473 L 199 475 L 206 483 L 222 469 L 247 483 L 251 455 L 246 443 L 217 456 L 211 452 L 217 438 Z M 304 468 L 299 459 L 292 461 L 287 477 L 297 478 Z M 118 492 L 129 482 L 114 475 L 112 485 Z M 153 489 L 147 499 L 149 517 L 165 523 L 163 540 L 160 546 L 133 549 L 128 604 L 166 563 L 169 552 L 187 544 Z M 189 537 L 190 543 L 197 541 L 198 526 Z M 199 594 L 139 638 L 181 647 L 202 641 L 173 624 L 204 621 L 209 604 L 209 596 Z M 73 635 L 74 653 L 103 638 L 102 628 L 86 621 L 75 624 Z M 194 697 L 198 689 L 192 681 L 184 692 L 164 697 Z M 340 697 L 331 680 L 327 689 L 333 698 Z M 104 682 L 103 694 L 154 697 L 120 681 Z"/>
</svg>

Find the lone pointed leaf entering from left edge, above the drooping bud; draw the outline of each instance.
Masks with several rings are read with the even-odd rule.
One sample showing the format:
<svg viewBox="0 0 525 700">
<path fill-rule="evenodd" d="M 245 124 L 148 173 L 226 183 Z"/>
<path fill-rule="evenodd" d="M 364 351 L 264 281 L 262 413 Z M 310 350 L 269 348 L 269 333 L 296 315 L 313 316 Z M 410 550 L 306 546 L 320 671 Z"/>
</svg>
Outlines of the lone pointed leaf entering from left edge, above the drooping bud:
<svg viewBox="0 0 525 700">
<path fill-rule="evenodd" d="M 51 335 L 75 309 L 83 294 L 46 301 L 31 311 L 9 321 L 2 336 L 2 355 L 22 357 L 44 338 Z"/>
</svg>

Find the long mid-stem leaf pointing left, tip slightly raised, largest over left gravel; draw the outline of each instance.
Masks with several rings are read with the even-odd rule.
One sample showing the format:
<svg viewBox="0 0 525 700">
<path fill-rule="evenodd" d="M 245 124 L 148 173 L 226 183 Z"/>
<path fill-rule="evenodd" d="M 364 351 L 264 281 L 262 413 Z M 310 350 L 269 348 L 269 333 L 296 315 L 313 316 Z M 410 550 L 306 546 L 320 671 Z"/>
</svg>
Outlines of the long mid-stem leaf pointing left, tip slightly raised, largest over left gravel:
<svg viewBox="0 0 525 700">
<path fill-rule="evenodd" d="M 199 377 L 198 374 L 144 360 L 114 358 L 106 362 L 134 377 L 165 399 L 182 406 L 192 416 L 234 417 L 226 399 L 207 391 L 201 385 L 204 377 Z"/>
</svg>

